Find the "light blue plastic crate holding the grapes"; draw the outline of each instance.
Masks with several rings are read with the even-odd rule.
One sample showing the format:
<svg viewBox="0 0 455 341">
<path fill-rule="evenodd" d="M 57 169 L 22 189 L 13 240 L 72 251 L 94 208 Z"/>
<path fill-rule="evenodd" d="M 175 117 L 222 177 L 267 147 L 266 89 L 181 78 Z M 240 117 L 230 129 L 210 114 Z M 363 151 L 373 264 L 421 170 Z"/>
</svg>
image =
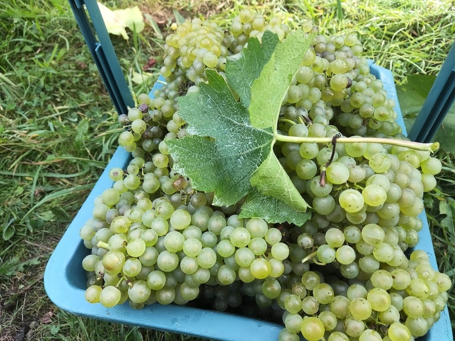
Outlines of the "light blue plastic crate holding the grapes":
<svg viewBox="0 0 455 341">
<path fill-rule="evenodd" d="M 81 9 L 83 11 L 82 0 L 71 0 L 70 2 L 74 5 L 73 10 Z M 93 7 L 93 3 L 95 2 L 86 0 L 86 3 L 87 9 L 91 9 L 97 13 L 98 8 L 95 9 Z M 88 3 L 90 3 L 90 5 Z M 89 6 L 91 7 L 89 8 Z M 99 37 L 106 38 L 107 36 L 109 41 L 106 44 L 109 46 L 101 46 L 101 44 L 96 41 L 95 37 L 93 40 L 86 40 L 90 51 L 93 52 L 94 59 L 100 69 L 100 73 L 104 75 L 103 79 L 105 82 L 110 82 L 112 79 L 115 79 L 113 76 L 115 72 L 109 69 L 109 62 L 107 62 L 104 53 L 111 51 L 111 49 L 113 51 L 113 48 L 107 32 L 98 31 L 99 29 L 102 30 L 104 27 L 99 11 L 98 16 L 99 18 L 97 19 L 98 23 L 96 28 L 97 33 Z M 92 19 L 94 20 L 93 16 Z M 99 22 L 100 20 L 101 24 Z M 79 25 L 81 25 L 80 22 Z M 89 28 L 86 27 L 86 29 L 88 30 Z M 112 58 L 112 56 L 110 58 Z M 383 81 L 384 88 L 387 90 L 389 97 L 396 101 L 397 106 L 395 107 L 395 111 L 399 115 L 398 123 L 404 130 L 404 122 L 398 105 L 392 73 L 389 70 L 375 64 L 371 65 L 371 70 L 376 77 Z M 106 74 L 110 74 L 110 76 L 106 76 Z M 155 87 L 157 86 L 159 85 L 156 84 Z M 123 88 L 120 92 L 118 92 L 118 88 L 112 88 L 109 86 L 108 90 L 111 97 L 119 96 L 119 93 L 123 91 L 123 98 L 126 98 L 127 100 L 123 102 L 114 101 L 114 103 L 119 112 L 124 111 L 124 108 L 126 107 L 124 104 L 128 104 L 128 102 L 131 101 L 131 99 L 128 99 L 128 95 L 130 96 L 129 90 L 127 90 L 127 88 Z M 127 93 L 125 91 L 127 91 Z M 278 333 L 283 328 L 283 325 L 266 322 L 260 319 L 186 306 L 163 306 L 158 303 L 147 305 L 142 310 L 134 310 L 129 307 L 128 303 L 114 308 L 105 308 L 101 304 L 89 304 L 85 301 L 84 291 L 86 276 L 85 271 L 81 267 L 81 261 L 90 253 L 90 250 L 84 247 L 79 236 L 79 230 L 81 226 L 84 225 L 85 221 L 92 217 L 95 198 L 97 198 L 106 188 L 110 188 L 112 186 L 113 181 L 110 180 L 108 176 L 109 170 L 113 167 L 126 168 L 129 160 L 130 153 L 127 153 L 122 148 L 118 148 L 93 190 L 90 192 L 88 198 L 80 208 L 76 217 L 71 222 L 67 231 L 58 243 L 44 272 L 44 288 L 51 301 L 61 309 L 72 314 L 128 325 L 220 340 L 277 340 Z M 424 226 L 419 232 L 420 242 L 417 249 L 426 251 L 430 255 L 431 264 L 435 269 L 437 269 L 436 257 L 425 213 L 422 213 L 420 218 L 422 219 Z M 439 321 L 434 324 L 427 335 L 419 338 L 419 340 L 453 340 L 447 308 L 445 308 L 441 313 Z"/>
</svg>

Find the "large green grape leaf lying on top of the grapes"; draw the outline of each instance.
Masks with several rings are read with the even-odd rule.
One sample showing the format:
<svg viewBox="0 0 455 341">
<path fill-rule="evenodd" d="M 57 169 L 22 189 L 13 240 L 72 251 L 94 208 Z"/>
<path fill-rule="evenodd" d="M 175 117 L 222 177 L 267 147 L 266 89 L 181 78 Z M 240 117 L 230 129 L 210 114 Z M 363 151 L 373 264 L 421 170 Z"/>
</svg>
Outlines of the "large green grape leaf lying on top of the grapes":
<svg viewBox="0 0 455 341">
<path fill-rule="evenodd" d="M 272 150 L 281 104 L 311 39 L 305 36 L 295 31 L 278 42 L 266 32 L 262 44 L 251 38 L 247 50 L 228 60 L 229 85 L 206 70 L 207 83 L 178 99 L 193 136 L 166 142 L 173 169 L 190 177 L 195 189 L 214 191 L 214 205 L 234 205 L 249 195 L 244 216 L 306 221 L 307 204 Z"/>
</svg>

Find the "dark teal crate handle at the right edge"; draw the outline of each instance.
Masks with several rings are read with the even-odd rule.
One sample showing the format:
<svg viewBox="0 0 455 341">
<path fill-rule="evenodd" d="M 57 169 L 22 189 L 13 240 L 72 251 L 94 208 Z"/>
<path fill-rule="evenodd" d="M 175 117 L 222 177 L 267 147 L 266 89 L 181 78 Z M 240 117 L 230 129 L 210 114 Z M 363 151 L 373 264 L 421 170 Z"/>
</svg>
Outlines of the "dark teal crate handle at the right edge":
<svg viewBox="0 0 455 341">
<path fill-rule="evenodd" d="M 413 141 L 431 142 L 455 99 L 455 43 L 428 93 L 409 137 Z"/>
</svg>

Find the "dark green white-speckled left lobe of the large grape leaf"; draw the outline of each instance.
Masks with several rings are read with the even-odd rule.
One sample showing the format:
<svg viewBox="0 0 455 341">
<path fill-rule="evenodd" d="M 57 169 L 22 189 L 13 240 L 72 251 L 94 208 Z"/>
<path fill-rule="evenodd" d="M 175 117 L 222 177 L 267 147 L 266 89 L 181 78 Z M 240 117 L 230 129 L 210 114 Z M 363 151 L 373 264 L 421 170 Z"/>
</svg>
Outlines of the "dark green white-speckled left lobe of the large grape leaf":
<svg viewBox="0 0 455 341">
<path fill-rule="evenodd" d="M 224 79 L 213 70 L 206 73 L 208 84 L 178 100 L 187 131 L 195 136 L 166 144 L 175 171 L 191 178 L 193 188 L 215 191 L 214 205 L 229 206 L 251 190 L 251 174 L 270 153 L 274 136 L 271 129 L 251 126 L 248 109 Z"/>
</svg>

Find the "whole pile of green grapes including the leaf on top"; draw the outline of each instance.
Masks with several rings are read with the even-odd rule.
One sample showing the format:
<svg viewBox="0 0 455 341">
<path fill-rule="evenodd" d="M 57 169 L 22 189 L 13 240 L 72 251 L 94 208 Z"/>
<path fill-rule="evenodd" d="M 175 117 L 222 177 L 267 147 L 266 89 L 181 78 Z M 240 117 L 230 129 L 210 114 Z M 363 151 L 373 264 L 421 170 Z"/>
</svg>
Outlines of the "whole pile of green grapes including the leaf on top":
<svg viewBox="0 0 455 341">
<path fill-rule="evenodd" d="M 119 116 L 131 161 L 80 230 L 86 300 L 242 313 L 280 340 L 424 335 L 451 282 L 406 251 L 437 144 L 403 136 L 358 37 L 248 10 L 172 29 L 165 84 Z"/>
</svg>

